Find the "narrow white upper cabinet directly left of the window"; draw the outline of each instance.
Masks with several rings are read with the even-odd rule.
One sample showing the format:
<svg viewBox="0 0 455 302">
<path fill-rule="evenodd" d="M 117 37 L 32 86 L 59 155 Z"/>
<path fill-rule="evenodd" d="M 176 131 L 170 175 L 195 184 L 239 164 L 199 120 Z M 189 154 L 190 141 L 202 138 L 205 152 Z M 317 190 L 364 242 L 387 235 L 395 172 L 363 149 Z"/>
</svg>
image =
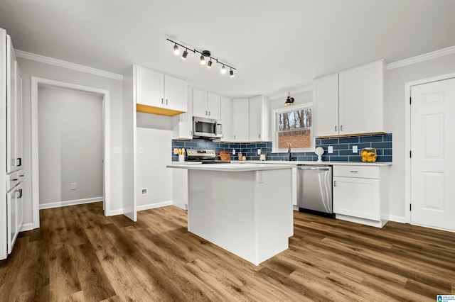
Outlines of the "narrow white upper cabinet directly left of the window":
<svg viewBox="0 0 455 302">
<path fill-rule="evenodd" d="M 269 99 L 255 96 L 249 101 L 249 141 L 267 141 L 269 136 Z"/>
</svg>

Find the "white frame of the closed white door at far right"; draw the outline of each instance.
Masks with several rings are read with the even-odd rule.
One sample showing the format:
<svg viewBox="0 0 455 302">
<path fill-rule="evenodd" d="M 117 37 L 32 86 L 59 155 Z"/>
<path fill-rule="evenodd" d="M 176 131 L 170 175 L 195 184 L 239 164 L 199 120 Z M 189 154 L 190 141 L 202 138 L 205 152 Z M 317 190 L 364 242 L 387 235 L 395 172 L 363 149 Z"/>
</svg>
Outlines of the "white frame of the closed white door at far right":
<svg viewBox="0 0 455 302">
<path fill-rule="evenodd" d="M 405 222 L 411 223 L 411 88 L 412 86 L 428 84 L 455 78 L 455 73 L 443 74 L 436 77 L 419 79 L 405 83 Z"/>
</svg>

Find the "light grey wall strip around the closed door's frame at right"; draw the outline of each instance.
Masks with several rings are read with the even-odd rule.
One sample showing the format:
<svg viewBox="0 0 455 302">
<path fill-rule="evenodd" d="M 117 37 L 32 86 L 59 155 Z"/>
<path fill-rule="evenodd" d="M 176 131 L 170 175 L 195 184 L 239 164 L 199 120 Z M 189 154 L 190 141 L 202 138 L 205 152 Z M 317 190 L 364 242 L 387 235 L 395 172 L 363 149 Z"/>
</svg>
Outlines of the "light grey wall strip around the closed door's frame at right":
<svg viewBox="0 0 455 302">
<path fill-rule="evenodd" d="M 455 72 L 455 55 L 420 62 L 385 72 L 385 127 L 392 133 L 393 164 L 390 170 L 390 218 L 405 221 L 405 83 Z"/>
</svg>

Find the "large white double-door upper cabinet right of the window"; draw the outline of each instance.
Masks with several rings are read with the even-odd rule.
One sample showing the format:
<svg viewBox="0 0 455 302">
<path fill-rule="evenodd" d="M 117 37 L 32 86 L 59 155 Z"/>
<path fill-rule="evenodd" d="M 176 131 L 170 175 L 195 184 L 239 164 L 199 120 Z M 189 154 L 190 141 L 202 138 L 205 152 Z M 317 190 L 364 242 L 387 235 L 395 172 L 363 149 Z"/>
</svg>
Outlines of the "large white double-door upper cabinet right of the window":
<svg viewBox="0 0 455 302">
<path fill-rule="evenodd" d="M 317 137 L 384 133 L 384 60 L 314 80 Z"/>
</svg>

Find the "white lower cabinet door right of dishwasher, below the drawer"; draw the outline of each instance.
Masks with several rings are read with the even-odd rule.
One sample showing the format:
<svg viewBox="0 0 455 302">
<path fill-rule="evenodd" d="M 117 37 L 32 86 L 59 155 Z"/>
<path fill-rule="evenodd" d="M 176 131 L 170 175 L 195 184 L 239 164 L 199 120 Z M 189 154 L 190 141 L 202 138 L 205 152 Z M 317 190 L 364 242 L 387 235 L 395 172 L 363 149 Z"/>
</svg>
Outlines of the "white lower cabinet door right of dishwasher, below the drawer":
<svg viewBox="0 0 455 302">
<path fill-rule="evenodd" d="M 379 179 L 333 177 L 333 212 L 380 220 Z"/>
</svg>

